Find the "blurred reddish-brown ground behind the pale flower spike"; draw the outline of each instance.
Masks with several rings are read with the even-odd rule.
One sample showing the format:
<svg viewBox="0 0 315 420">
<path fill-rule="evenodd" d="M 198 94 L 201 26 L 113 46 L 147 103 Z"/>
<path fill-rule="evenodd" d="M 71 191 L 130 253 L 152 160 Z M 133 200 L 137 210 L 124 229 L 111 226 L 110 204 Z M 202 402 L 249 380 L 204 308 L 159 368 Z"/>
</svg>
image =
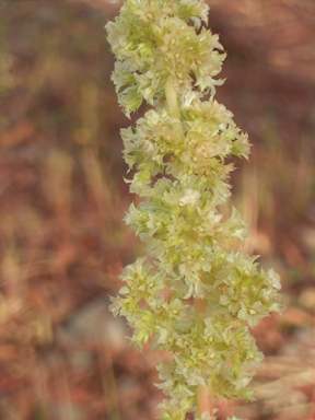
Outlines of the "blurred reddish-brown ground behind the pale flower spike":
<svg viewBox="0 0 315 420">
<path fill-rule="evenodd" d="M 0 419 L 152 420 L 155 365 L 108 313 L 143 253 L 122 218 L 122 115 L 105 0 L 0 2 Z M 253 331 L 257 401 L 221 417 L 315 419 L 315 1 L 211 0 L 228 51 L 217 100 L 253 143 L 235 159 L 245 250 L 282 278 L 288 306 Z M 147 110 L 141 107 L 135 124 Z"/>
</svg>

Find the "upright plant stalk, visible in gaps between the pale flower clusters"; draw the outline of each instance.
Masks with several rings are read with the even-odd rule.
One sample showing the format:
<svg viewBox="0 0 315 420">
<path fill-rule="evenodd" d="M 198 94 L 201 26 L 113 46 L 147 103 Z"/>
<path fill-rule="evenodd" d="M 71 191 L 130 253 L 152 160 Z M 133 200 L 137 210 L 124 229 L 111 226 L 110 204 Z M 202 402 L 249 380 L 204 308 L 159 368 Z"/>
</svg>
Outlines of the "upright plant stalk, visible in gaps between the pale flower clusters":
<svg viewBox="0 0 315 420">
<path fill-rule="evenodd" d="M 180 136 L 184 136 L 184 130 L 180 121 L 180 113 L 177 93 L 174 88 L 173 77 L 170 75 L 164 85 L 168 114 L 172 118 L 178 120 L 178 130 Z M 196 322 L 198 322 L 199 314 L 206 310 L 206 301 L 202 299 L 195 300 Z M 212 384 L 209 381 L 208 385 L 197 385 L 197 416 L 200 419 L 203 412 L 209 412 L 210 417 L 213 416 L 213 400 L 212 400 Z"/>
</svg>

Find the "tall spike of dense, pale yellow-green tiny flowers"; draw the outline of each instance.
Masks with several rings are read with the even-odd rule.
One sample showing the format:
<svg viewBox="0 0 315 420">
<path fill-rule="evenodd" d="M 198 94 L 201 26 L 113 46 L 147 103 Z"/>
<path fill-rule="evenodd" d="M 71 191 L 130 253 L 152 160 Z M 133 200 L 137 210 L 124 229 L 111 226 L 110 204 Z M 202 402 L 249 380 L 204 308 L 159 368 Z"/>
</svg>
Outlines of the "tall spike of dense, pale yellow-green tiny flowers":
<svg viewBox="0 0 315 420">
<path fill-rule="evenodd" d="M 158 366 L 163 420 L 195 411 L 197 385 L 210 380 L 214 398 L 252 400 L 262 353 L 248 326 L 282 311 L 279 276 L 226 247 L 232 238 L 244 244 L 247 231 L 235 208 L 228 220 L 218 211 L 231 196 L 225 160 L 247 159 L 249 143 L 213 98 L 225 55 L 207 24 L 205 0 L 126 0 L 106 25 L 119 104 L 128 117 L 143 100 L 152 106 L 121 130 L 130 191 L 143 198 L 126 222 L 148 256 L 124 269 L 110 308 L 132 327 L 132 345 L 173 354 Z M 206 302 L 198 317 L 192 298 Z"/>
</svg>

